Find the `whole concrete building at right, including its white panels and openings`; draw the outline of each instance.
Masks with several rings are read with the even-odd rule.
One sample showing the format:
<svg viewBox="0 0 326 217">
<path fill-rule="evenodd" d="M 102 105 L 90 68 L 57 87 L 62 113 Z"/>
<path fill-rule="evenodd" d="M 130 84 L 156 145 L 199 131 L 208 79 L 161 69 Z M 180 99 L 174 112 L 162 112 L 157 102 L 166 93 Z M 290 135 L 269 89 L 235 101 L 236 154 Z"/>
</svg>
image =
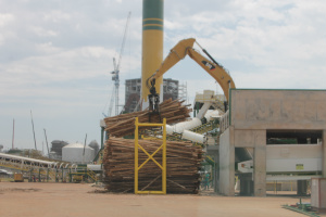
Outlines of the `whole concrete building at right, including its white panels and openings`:
<svg viewBox="0 0 326 217">
<path fill-rule="evenodd" d="M 221 119 L 218 192 L 265 196 L 267 181 L 326 176 L 326 91 L 230 89 Z M 236 165 L 236 166 L 235 166 Z"/>
</svg>

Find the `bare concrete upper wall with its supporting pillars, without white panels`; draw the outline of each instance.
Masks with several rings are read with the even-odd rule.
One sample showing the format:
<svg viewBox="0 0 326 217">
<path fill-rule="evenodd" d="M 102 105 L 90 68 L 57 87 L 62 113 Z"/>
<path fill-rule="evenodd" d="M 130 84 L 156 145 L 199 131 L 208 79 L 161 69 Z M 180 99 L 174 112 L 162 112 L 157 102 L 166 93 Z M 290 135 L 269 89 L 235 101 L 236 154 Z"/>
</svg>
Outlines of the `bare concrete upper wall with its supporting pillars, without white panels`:
<svg viewBox="0 0 326 217">
<path fill-rule="evenodd" d="M 266 191 L 266 129 L 324 130 L 326 177 L 326 91 L 230 90 L 229 128 L 220 139 L 220 192 L 234 195 L 235 148 L 253 149 L 254 195 Z"/>
</svg>

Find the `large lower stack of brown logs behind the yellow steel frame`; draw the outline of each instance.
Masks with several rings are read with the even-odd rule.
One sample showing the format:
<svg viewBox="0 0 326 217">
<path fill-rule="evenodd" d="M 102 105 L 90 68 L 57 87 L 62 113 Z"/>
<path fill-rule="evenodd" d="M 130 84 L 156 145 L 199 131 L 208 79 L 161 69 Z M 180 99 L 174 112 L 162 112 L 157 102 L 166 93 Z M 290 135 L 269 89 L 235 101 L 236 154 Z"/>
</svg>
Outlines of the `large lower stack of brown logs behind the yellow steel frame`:
<svg viewBox="0 0 326 217">
<path fill-rule="evenodd" d="M 139 144 L 152 154 L 161 146 L 160 140 L 139 140 Z M 138 149 L 139 166 L 148 158 Z M 162 151 L 153 158 L 162 164 Z M 166 191 L 167 193 L 198 193 L 199 167 L 202 161 L 202 150 L 188 142 L 166 142 Z M 111 192 L 134 192 L 135 177 L 135 140 L 110 138 L 105 142 L 103 156 L 104 181 Z M 161 191 L 162 170 L 150 159 L 139 170 L 140 191 Z"/>
</svg>

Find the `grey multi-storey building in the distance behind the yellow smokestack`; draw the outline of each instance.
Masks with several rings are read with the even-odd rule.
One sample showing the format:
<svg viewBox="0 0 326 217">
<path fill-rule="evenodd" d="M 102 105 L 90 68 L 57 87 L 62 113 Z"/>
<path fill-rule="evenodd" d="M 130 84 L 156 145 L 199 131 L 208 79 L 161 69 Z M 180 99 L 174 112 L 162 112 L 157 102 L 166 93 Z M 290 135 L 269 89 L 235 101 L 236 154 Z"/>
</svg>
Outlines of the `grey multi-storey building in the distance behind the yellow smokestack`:
<svg viewBox="0 0 326 217">
<path fill-rule="evenodd" d="M 125 106 L 124 112 L 130 113 L 140 110 L 140 90 L 141 90 L 141 79 L 126 79 L 125 84 Z M 186 95 L 185 87 L 180 89 L 183 95 Z M 179 81 L 171 78 L 163 79 L 163 100 L 172 98 L 173 100 L 178 99 L 179 95 Z"/>
</svg>

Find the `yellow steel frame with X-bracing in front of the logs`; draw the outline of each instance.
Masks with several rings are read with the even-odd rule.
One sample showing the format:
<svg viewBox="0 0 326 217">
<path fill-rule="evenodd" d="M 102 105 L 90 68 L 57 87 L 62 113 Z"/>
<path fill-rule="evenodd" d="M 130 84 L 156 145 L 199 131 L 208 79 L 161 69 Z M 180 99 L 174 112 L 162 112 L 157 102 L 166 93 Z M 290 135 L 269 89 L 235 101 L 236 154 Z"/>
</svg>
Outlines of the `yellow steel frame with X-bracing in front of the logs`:
<svg viewBox="0 0 326 217">
<path fill-rule="evenodd" d="M 152 123 L 139 123 L 138 117 L 135 120 L 135 194 L 166 194 L 166 119 L 163 118 L 163 124 L 152 124 Z M 138 127 L 151 126 L 151 127 L 163 127 L 163 143 L 162 145 L 152 154 L 149 154 L 139 143 L 138 143 Z M 139 166 L 138 165 L 138 148 L 148 155 L 148 158 Z M 162 150 L 162 165 L 154 159 L 154 155 Z M 150 159 L 152 159 L 162 169 L 162 191 L 139 191 L 138 190 L 138 171 L 146 165 Z"/>
</svg>

